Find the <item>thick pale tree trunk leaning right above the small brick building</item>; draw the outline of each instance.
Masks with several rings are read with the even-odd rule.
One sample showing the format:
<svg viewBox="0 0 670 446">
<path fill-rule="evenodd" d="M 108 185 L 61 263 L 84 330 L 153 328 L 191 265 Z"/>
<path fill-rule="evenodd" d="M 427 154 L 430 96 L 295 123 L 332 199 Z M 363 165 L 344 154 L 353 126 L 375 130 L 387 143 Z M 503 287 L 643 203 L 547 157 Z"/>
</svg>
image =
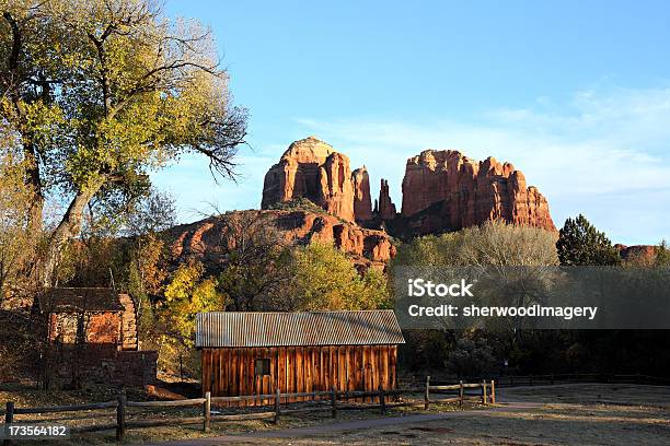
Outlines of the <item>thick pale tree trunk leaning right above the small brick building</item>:
<svg viewBox="0 0 670 446">
<path fill-rule="evenodd" d="M 44 270 L 42 277 L 42 285 L 45 287 L 53 286 L 56 280 L 56 270 L 60 261 L 60 255 L 65 245 L 81 231 L 81 222 L 83 220 L 83 211 L 85 206 L 91 201 L 99 187 L 88 188 L 83 191 L 78 191 L 62 220 L 54 231 L 45 254 Z"/>
</svg>

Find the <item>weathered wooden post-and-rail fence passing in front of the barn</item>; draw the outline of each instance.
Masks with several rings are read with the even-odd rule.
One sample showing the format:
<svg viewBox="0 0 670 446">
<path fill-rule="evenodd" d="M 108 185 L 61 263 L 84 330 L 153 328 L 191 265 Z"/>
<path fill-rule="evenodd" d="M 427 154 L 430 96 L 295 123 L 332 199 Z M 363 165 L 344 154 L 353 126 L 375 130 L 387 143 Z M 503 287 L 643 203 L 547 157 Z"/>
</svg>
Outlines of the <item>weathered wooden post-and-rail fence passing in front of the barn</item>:
<svg viewBox="0 0 670 446">
<path fill-rule="evenodd" d="M 474 394 L 473 394 L 474 392 Z M 398 399 L 401 395 L 408 394 L 424 394 L 424 401 L 402 401 Z M 337 391 L 333 387 L 330 391 L 311 391 L 311 392 L 293 392 L 293 394 L 280 394 L 277 390 L 270 395 L 250 395 L 240 397 L 211 397 L 210 392 L 205 395 L 205 398 L 193 398 L 175 401 L 128 401 L 124 391 L 118 394 L 115 401 L 99 402 L 91 404 L 76 404 L 76 406 L 54 406 L 54 407 L 42 407 L 42 408 L 20 408 L 13 402 L 8 402 L 4 411 L 4 422 L 7 424 L 13 423 L 14 415 L 19 414 L 42 414 L 42 413 L 56 413 L 56 412 L 78 412 L 100 409 L 114 409 L 116 411 L 116 422 L 111 424 L 94 424 L 89 426 L 76 426 L 71 427 L 71 433 L 84 433 L 84 432 L 96 432 L 96 431 L 116 431 L 116 439 L 123 441 L 126 430 L 138 429 L 138 427 L 154 427 L 162 425 L 176 425 L 176 424 L 196 424 L 201 423 L 203 430 L 208 432 L 212 422 L 226 422 L 226 421 L 243 421 L 243 420 L 270 420 L 277 422 L 281 415 L 291 415 L 297 413 L 313 413 L 313 412 L 330 412 L 331 416 L 337 416 L 337 412 L 340 410 L 368 410 L 378 409 L 381 414 L 385 414 L 388 409 L 398 407 L 423 407 L 428 409 L 431 403 L 442 402 L 459 402 L 463 406 L 464 401 L 478 401 L 483 404 L 495 403 L 495 384 L 494 382 L 481 382 L 476 384 L 464 384 L 460 382 L 457 385 L 450 386 L 435 386 L 430 384 L 430 377 L 426 379 L 425 387 L 415 387 L 406 389 L 385 390 L 382 386 L 379 386 L 377 391 Z M 435 398 L 435 396 L 443 396 L 443 398 Z M 291 400 L 293 398 L 305 398 L 304 402 L 320 402 L 320 407 L 298 407 L 287 408 L 282 407 L 282 402 Z M 371 399 L 372 403 L 349 403 L 349 400 L 361 400 Z M 268 409 L 264 412 L 250 412 L 250 413 L 233 413 L 233 414 L 218 414 L 216 411 L 212 413 L 212 406 L 223 406 L 231 402 L 239 401 L 272 401 L 272 404 L 267 404 Z M 324 400 L 327 403 L 324 404 Z M 420 400 L 419 400 L 420 401 Z M 307 406 L 307 404 L 293 404 L 293 406 Z M 198 416 L 175 416 L 160 420 L 128 420 L 129 409 L 132 408 L 185 408 L 185 407 L 200 407 L 201 414 Z M 23 421 L 23 420 L 22 420 Z M 5 445 L 9 441 L 4 442 Z"/>
</svg>

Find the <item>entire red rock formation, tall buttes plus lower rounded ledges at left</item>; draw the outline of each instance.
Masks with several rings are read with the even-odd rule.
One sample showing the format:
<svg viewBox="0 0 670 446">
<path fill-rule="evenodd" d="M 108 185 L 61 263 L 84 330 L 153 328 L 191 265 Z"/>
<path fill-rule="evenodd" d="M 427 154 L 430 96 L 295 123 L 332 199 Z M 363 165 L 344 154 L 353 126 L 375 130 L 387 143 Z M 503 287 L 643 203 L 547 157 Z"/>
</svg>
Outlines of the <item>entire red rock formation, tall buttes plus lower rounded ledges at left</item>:
<svg viewBox="0 0 670 446">
<path fill-rule="evenodd" d="M 293 142 L 270 167 L 261 206 L 172 228 L 173 258 L 224 263 L 235 240 L 231 228 L 249 231 L 244 222 L 273 228 L 286 243 L 332 242 L 363 269 L 383 268 L 395 256 L 390 235 L 455 231 L 487 220 L 556 231 L 546 199 L 509 163 L 421 152 L 407 161 L 398 213 L 388 180 L 372 207 L 366 167 L 351 172 L 345 154 L 314 137 Z"/>
</svg>

